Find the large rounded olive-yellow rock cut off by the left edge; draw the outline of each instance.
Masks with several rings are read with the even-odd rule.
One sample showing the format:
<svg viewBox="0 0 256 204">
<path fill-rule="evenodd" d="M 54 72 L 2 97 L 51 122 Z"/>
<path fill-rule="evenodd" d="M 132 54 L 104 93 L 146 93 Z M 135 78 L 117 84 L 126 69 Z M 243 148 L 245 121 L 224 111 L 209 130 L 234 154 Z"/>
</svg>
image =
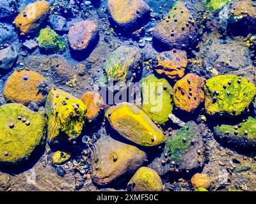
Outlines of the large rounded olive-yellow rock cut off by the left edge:
<svg viewBox="0 0 256 204">
<path fill-rule="evenodd" d="M 20 103 L 0 106 L 0 163 L 27 159 L 44 141 L 46 120 Z"/>
</svg>

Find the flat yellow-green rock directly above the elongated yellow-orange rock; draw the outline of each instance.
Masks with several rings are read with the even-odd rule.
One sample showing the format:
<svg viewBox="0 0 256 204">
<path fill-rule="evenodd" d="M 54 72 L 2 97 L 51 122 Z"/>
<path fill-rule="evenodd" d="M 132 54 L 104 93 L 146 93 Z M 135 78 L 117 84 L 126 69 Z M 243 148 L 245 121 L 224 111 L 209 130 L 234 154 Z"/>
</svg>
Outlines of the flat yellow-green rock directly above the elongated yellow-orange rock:
<svg viewBox="0 0 256 204">
<path fill-rule="evenodd" d="M 168 81 L 149 75 L 141 80 L 141 92 L 143 112 L 158 124 L 168 121 L 168 115 L 172 113 L 172 87 Z"/>
</svg>

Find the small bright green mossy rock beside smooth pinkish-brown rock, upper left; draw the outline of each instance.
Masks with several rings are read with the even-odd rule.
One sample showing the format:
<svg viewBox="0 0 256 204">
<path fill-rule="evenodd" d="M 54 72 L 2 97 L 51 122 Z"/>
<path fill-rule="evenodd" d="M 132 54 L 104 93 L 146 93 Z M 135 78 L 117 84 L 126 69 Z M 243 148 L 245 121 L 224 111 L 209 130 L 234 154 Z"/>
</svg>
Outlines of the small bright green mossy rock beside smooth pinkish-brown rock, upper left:
<svg viewBox="0 0 256 204">
<path fill-rule="evenodd" d="M 65 39 L 50 28 L 42 29 L 36 40 L 40 48 L 49 52 L 63 52 L 66 48 Z"/>
</svg>

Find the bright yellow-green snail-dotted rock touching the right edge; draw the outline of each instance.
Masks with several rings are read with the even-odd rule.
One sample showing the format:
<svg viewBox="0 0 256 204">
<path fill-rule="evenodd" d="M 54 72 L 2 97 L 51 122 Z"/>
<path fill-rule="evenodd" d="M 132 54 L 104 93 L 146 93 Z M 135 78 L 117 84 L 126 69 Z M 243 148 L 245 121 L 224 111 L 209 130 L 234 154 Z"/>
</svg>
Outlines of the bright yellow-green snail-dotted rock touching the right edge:
<svg viewBox="0 0 256 204">
<path fill-rule="evenodd" d="M 256 87 L 237 75 L 220 75 L 205 84 L 205 110 L 209 115 L 240 115 L 252 103 Z"/>
</svg>

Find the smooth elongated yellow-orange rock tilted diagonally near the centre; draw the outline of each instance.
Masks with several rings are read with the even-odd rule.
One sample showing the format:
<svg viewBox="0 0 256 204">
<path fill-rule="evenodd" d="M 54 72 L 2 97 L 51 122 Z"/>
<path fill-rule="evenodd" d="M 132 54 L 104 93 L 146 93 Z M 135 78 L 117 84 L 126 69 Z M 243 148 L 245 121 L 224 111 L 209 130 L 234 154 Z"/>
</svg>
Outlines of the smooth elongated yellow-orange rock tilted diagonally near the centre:
<svg viewBox="0 0 256 204">
<path fill-rule="evenodd" d="M 118 103 L 108 109 L 105 117 L 120 135 L 138 145 L 151 147 L 165 142 L 162 131 L 135 105 Z"/>
</svg>

